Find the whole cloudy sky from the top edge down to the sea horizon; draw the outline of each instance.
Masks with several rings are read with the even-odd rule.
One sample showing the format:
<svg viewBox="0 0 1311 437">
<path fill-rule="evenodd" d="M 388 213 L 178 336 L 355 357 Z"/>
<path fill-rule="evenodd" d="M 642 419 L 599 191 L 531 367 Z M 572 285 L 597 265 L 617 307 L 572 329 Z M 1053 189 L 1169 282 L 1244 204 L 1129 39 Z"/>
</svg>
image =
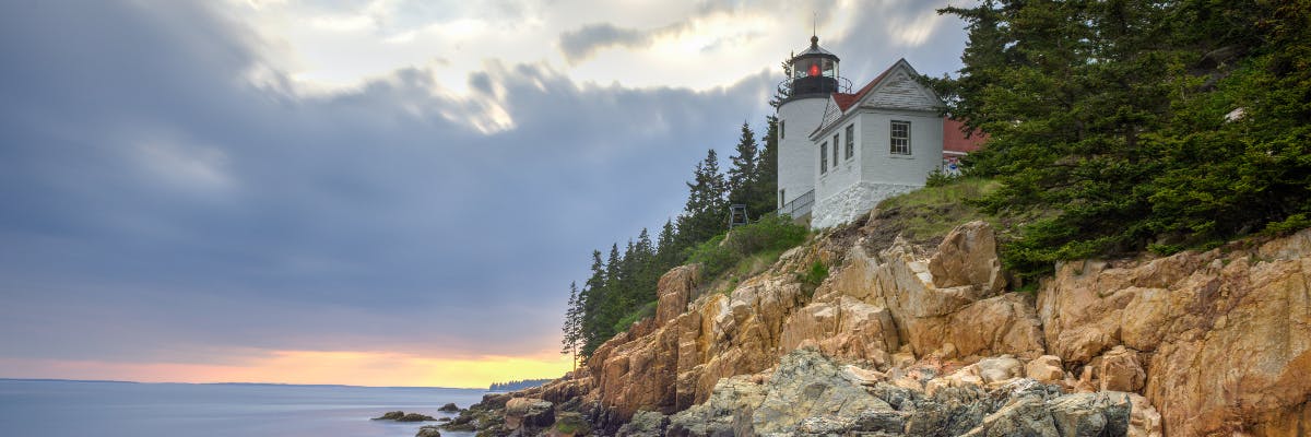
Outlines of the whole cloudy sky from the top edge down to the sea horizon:
<svg viewBox="0 0 1311 437">
<path fill-rule="evenodd" d="M 0 378 L 555 378 L 809 45 L 960 68 L 947 1 L 0 3 Z"/>
</svg>

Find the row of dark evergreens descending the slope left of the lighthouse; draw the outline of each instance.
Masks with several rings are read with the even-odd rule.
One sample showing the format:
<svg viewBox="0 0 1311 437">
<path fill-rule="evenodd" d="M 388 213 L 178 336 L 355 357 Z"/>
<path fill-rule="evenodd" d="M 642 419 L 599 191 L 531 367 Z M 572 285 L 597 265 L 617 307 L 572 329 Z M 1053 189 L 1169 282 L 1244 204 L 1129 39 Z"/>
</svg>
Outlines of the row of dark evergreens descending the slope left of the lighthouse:
<svg viewBox="0 0 1311 437">
<path fill-rule="evenodd" d="M 714 150 L 707 151 L 687 182 L 682 214 L 666 220 L 654 240 L 642 228 L 627 244 L 612 244 L 604 256 L 593 251 L 591 276 L 582 287 L 569 285 L 561 353 L 574 360 L 589 357 L 615 333 L 653 315 L 661 274 L 687 260 L 694 247 L 728 230 L 729 205 L 746 205 L 753 219 L 775 211 L 777 119 L 768 117 L 766 123 L 760 140 L 742 123 L 728 172 L 720 171 Z"/>
</svg>

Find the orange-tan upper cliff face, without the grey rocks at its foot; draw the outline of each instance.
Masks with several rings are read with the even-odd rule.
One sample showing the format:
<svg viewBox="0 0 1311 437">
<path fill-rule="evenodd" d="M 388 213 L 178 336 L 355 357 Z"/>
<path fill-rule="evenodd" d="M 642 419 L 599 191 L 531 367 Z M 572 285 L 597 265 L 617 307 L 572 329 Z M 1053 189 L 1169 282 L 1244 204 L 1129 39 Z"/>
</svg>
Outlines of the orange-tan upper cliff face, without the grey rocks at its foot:
<svg viewBox="0 0 1311 437">
<path fill-rule="evenodd" d="M 1311 231 L 1067 262 L 1036 298 L 1006 293 L 986 223 L 957 227 L 936 248 L 873 247 L 884 239 L 873 232 L 825 235 L 728 294 L 696 295 L 696 268 L 674 269 L 656 319 L 606 343 L 572 378 L 519 395 L 598 406 L 594 421 L 614 430 L 638 411 L 735 399 L 724 391 L 767 385 L 780 358 L 815 349 L 869 383 L 926 396 L 1023 377 L 1063 392 L 1141 394 L 1130 396 L 1130 434 L 1311 430 Z M 832 273 L 810 294 L 797 273 L 814 261 Z"/>
</svg>

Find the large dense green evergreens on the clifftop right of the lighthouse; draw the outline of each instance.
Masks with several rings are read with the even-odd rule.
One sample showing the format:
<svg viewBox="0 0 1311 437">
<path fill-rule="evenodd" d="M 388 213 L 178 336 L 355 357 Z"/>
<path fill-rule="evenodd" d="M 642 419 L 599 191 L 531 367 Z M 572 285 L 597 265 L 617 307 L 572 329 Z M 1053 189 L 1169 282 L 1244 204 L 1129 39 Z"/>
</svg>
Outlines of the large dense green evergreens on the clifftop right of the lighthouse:
<svg viewBox="0 0 1311 437">
<path fill-rule="evenodd" d="M 968 22 L 957 77 L 928 79 L 990 135 L 964 160 L 1028 220 L 1003 260 L 1210 248 L 1311 226 L 1311 1 L 1020 1 Z"/>
</svg>

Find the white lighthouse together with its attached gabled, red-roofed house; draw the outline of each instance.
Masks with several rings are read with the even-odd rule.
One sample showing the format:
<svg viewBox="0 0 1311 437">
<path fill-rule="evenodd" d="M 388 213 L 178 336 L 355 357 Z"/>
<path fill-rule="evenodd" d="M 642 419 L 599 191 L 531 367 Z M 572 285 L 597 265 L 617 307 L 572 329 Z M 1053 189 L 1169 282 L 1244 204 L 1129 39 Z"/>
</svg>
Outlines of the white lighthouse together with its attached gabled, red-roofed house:
<svg viewBox="0 0 1311 437">
<path fill-rule="evenodd" d="M 943 101 L 899 59 L 856 92 L 839 76 L 838 56 L 810 38 L 780 85 L 780 214 L 831 227 L 878 201 L 924 186 L 933 171 L 954 172 L 982 138 L 964 138 L 941 117 Z"/>
</svg>

